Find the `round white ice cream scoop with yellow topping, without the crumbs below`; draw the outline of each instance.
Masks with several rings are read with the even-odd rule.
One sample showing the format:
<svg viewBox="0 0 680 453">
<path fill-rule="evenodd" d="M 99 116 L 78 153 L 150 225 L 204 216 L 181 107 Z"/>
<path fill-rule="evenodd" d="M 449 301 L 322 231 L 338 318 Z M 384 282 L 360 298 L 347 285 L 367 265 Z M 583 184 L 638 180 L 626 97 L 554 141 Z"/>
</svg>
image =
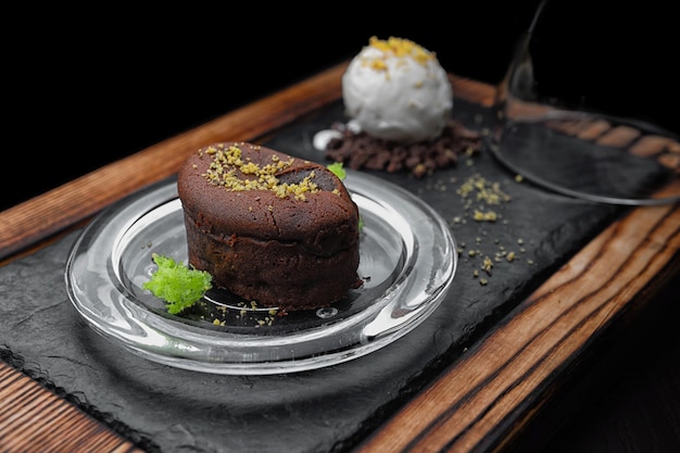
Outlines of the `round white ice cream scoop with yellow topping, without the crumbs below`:
<svg viewBox="0 0 680 453">
<path fill-rule="evenodd" d="M 367 134 L 414 142 L 437 138 L 453 88 L 435 53 L 407 39 L 370 38 L 342 75 L 347 113 Z"/>
</svg>

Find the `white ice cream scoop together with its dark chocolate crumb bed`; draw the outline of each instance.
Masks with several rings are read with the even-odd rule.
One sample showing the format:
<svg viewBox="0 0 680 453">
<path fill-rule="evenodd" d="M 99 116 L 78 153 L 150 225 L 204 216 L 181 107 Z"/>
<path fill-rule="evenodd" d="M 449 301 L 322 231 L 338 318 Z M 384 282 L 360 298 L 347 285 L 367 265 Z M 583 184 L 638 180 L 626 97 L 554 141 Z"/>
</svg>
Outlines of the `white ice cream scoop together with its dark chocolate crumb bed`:
<svg viewBox="0 0 680 453">
<path fill-rule="evenodd" d="M 372 37 L 342 75 L 342 100 L 350 122 L 317 148 L 350 168 L 420 178 L 481 148 L 480 135 L 451 117 L 453 87 L 436 53 L 408 39 Z"/>
</svg>

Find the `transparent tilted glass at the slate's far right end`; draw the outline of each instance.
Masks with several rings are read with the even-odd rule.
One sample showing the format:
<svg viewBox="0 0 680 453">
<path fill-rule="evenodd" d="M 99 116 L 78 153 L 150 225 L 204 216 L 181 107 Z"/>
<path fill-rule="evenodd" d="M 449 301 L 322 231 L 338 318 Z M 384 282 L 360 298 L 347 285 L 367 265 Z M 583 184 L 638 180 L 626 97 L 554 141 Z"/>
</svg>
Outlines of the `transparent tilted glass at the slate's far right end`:
<svg viewBox="0 0 680 453">
<path fill-rule="evenodd" d="M 499 86 L 491 151 L 512 172 L 570 197 L 678 202 L 680 121 L 659 109 L 678 106 L 669 99 L 673 40 L 641 25 L 663 11 L 592 3 L 541 1 Z"/>
</svg>

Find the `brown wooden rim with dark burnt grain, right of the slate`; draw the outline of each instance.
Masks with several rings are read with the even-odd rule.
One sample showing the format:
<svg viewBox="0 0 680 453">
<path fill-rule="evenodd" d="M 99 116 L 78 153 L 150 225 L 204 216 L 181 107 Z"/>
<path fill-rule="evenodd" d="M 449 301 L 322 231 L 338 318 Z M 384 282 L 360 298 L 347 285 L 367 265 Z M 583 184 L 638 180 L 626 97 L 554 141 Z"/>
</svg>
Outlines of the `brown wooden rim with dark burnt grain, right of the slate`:
<svg viewBox="0 0 680 453">
<path fill-rule="evenodd" d="M 678 193 L 680 186 L 671 190 Z M 648 294 L 635 297 L 666 272 L 679 248 L 677 205 L 634 210 L 583 248 L 360 451 L 502 449 L 546 401 L 557 374 L 577 362 L 632 300 L 645 303 Z"/>
</svg>

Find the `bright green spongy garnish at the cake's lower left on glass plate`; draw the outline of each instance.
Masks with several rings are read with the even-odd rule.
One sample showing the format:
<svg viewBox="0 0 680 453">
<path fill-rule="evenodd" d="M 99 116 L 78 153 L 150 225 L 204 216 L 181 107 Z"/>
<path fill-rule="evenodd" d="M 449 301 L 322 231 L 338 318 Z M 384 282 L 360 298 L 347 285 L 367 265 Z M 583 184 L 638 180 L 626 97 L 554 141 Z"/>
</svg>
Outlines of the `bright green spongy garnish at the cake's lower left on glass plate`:
<svg viewBox="0 0 680 453">
<path fill-rule="evenodd" d="M 159 268 L 141 287 L 163 299 L 169 314 L 176 315 L 190 307 L 213 286 L 213 276 L 205 270 L 189 268 L 184 263 L 158 253 L 151 257 Z"/>
</svg>

